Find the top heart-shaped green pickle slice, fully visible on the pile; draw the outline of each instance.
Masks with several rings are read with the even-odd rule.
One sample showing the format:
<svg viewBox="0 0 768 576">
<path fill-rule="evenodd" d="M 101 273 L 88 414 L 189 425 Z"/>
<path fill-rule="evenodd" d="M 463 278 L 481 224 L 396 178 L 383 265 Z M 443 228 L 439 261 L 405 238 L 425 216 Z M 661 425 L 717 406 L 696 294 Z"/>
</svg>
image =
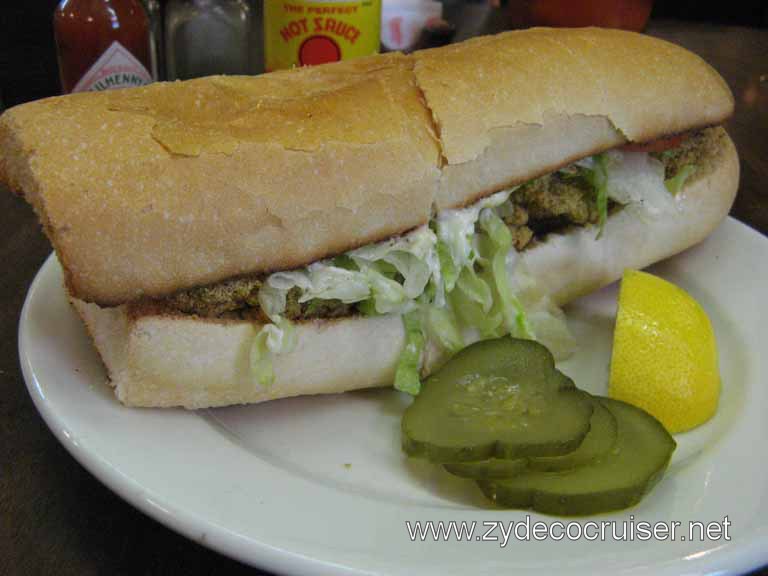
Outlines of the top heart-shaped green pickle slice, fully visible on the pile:
<svg viewBox="0 0 768 576">
<path fill-rule="evenodd" d="M 403 449 L 438 463 L 556 456 L 581 444 L 591 416 L 544 346 L 485 340 L 424 382 L 403 416 Z"/>
</svg>

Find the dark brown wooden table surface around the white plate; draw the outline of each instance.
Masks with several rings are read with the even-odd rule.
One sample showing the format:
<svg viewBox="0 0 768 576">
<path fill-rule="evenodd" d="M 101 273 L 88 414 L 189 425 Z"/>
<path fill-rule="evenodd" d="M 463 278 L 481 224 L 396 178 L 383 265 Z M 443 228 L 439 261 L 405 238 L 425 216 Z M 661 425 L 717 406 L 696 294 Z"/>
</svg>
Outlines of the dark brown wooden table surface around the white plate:
<svg viewBox="0 0 768 576">
<path fill-rule="evenodd" d="M 732 214 L 768 234 L 768 30 L 659 22 L 649 32 L 697 52 L 730 84 L 728 129 L 742 166 Z M 27 394 L 16 340 L 25 293 L 50 247 L 26 203 L 5 191 L 0 231 L 0 574 L 260 573 L 137 512 L 54 439 Z"/>
</svg>

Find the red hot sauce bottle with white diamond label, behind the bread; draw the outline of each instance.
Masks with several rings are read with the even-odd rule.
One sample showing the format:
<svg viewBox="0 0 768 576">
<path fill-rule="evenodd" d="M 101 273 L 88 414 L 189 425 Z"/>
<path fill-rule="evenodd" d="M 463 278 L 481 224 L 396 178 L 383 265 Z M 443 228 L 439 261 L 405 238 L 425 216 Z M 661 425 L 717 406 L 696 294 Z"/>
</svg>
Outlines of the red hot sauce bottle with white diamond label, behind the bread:
<svg viewBox="0 0 768 576">
<path fill-rule="evenodd" d="M 150 24 L 140 0 L 61 0 L 53 28 L 65 93 L 153 81 Z"/>
</svg>

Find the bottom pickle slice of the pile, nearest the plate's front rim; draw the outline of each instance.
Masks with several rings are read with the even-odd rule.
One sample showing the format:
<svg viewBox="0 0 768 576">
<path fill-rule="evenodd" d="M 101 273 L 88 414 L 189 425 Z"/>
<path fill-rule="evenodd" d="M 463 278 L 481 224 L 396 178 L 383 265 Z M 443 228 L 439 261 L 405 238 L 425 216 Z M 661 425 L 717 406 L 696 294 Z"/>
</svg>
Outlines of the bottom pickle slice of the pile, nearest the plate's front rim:
<svg viewBox="0 0 768 576">
<path fill-rule="evenodd" d="M 601 402 L 618 424 L 616 443 L 607 454 L 573 470 L 529 470 L 506 480 L 478 480 L 480 489 L 501 506 L 558 516 L 598 514 L 637 504 L 663 475 L 675 441 L 640 408 L 618 400 Z"/>
</svg>

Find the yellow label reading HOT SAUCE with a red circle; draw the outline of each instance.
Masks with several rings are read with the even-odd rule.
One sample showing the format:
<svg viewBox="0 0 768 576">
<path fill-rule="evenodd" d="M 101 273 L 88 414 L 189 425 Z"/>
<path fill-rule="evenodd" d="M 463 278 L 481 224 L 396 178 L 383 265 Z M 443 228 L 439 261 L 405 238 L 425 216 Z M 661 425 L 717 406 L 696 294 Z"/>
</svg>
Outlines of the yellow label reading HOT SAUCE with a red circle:
<svg viewBox="0 0 768 576">
<path fill-rule="evenodd" d="M 267 71 L 369 56 L 379 51 L 381 0 L 265 0 Z"/>
</svg>

